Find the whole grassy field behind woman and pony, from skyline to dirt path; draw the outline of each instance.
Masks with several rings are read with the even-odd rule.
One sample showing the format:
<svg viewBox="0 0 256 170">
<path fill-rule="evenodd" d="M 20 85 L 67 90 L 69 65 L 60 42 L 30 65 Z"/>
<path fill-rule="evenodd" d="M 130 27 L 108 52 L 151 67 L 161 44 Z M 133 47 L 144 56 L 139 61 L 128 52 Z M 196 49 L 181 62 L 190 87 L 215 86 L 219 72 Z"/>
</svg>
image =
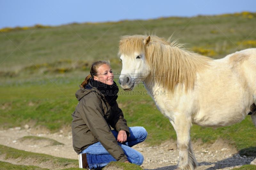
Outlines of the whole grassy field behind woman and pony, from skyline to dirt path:
<svg viewBox="0 0 256 170">
<path fill-rule="evenodd" d="M 255 23 L 256 13 L 243 12 L 1 29 L 0 125 L 22 127 L 32 122 L 52 132 L 70 126 L 71 113 L 78 103 L 75 92 L 92 62 L 109 59 L 114 73 L 121 72 L 117 51 L 122 35 L 153 33 L 166 39 L 172 35 L 173 40 L 179 38 L 180 43 L 186 43 L 188 50 L 218 59 L 237 50 L 255 48 Z M 117 101 L 128 126 L 147 129 L 148 143 L 176 139 L 169 120 L 157 110 L 150 96 L 120 95 Z M 194 125 L 191 129 L 192 140 L 212 143 L 219 138 L 227 139 L 242 154 L 256 156 L 254 136 L 256 129 L 249 116 L 230 127 L 212 129 Z"/>
</svg>

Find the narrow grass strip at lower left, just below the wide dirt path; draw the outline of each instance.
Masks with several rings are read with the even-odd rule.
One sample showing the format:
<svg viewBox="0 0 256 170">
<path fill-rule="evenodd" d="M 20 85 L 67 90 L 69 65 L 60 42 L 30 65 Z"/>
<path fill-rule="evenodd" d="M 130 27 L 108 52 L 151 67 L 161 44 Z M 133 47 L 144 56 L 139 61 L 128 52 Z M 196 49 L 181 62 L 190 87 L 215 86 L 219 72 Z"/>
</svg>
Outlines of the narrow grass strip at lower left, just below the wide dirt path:
<svg viewBox="0 0 256 170">
<path fill-rule="evenodd" d="M 22 162 L 22 160 L 31 158 L 31 159 L 34 159 L 35 162 L 39 162 L 39 163 L 51 161 L 52 164 L 54 164 L 55 166 L 60 166 L 60 167 L 65 167 L 68 165 L 74 166 L 74 167 L 79 167 L 77 159 L 59 158 L 59 157 L 54 157 L 51 155 L 27 152 L 27 151 L 22 151 L 22 150 L 14 149 L 11 147 L 7 147 L 4 145 L 0 145 L 0 155 L 3 155 L 3 154 L 5 154 L 5 159 L 20 158 L 21 159 L 20 162 Z"/>
</svg>

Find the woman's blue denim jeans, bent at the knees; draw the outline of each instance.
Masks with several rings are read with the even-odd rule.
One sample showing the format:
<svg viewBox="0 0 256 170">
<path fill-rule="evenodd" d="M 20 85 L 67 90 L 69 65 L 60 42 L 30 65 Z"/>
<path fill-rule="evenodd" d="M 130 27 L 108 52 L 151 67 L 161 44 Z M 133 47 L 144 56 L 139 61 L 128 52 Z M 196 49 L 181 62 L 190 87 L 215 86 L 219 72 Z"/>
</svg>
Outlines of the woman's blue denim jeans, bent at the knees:
<svg viewBox="0 0 256 170">
<path fill-rule="evenodd" d="M 127 140 L 124 143 L 118 142 L 118 145 L 122 147 L 124 154 L 127 156 L 130 163 L 141 165 L 144 160 L 143 155 L 131 147 L 143 142 L 147 138 L 148 132 L 143 127 L 130 127 L 129 130 L 130 136 L 127 137 Z M 112 130 L 112 133 L 117 140 L 118 132 L 116 130 Z M 116 159 L 108 153 L 100 142 L 90 145 L 81 153 L 87 153 L 86 158 L 90 169 L 101 168 L 108 165 L 111 161 L 116 161 Z"/>
</svg>

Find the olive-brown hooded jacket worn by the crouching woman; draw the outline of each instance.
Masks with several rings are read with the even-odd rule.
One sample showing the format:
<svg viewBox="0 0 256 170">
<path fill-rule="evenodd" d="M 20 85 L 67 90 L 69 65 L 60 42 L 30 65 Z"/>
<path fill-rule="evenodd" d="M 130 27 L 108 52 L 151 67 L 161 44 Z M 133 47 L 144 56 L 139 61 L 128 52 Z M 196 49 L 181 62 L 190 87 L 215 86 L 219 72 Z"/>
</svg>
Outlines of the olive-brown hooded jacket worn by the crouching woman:
<svg viewBox="0 0 256 170">
<path fill-rule="evenodd" d="M 117 103 L 111 107 L 97 88 L 90 86 L 90 83 L 88 85 L 86 89 L 80 87 L 76 92 L 79 103 L 71 115 L 73 148 L 79 154 L 88 146 L 100 142 L 116 161 L 125 162 L 128 159 L 110 128 L 117 132 L 125 130 L 130 136 L 123 112 Z"/>
</svg>

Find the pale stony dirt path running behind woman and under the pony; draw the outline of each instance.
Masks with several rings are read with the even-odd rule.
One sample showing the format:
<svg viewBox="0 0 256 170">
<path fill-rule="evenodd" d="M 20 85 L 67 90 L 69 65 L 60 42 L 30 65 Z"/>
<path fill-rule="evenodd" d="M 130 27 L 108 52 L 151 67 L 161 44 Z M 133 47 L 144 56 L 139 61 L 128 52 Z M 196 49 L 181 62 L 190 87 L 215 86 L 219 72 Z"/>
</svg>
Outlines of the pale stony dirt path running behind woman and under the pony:
<svg viewBox="0 0 256 170">
<path fill-rule="evenodd" d="M 29 152 L 78 159 L 72 147 L 72 134 L 70 131 L 71 129 L 67 128 L 60 130 L 58 133 L 50 134 L 43 128 L 28 130 L 20 129 L 19 127 L 10 128 L 8 130 L 0 130 L 0 144 Z M 31 135 L 54 139 L 64 145 L 49 146 L 49 141 L 20 140 L 23 136 Z M 192 143 L 192 145 L 199 164 L 196 170 L 228 170 L 250 164 L 254 159 L 254 157 L 240 157 L 235 148 L 228 146 L 222 140 L 216 141 L 212 145 L 202 145 L 200 141 Z M 133 148 L 140 151 L 144 156 L 144 163 L 141 165 L 143 169 L 172 170 L 177 165 L 179 152 L 175 142 L 168 141 L 156 147 L 148 147 L 147 144 L 140 143 Z M 0 157 L 0 161 L 6 160 Z M 16 163 L 12 160 L 8 160 L 8 162 Z M 48 168 L 51 169 L 51 167 Z"/>
</svg>

